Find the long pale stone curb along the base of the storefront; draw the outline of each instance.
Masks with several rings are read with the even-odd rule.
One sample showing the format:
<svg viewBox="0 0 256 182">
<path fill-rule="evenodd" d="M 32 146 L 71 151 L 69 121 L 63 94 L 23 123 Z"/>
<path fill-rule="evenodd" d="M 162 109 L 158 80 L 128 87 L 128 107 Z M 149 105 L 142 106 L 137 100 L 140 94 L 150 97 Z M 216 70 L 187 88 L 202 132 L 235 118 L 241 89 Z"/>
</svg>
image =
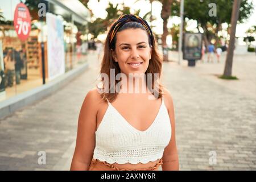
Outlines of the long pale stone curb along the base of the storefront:
<svg viewBox="0 0 256 182">
<path fill-rule="evenodd" d="M 71 71 L 64 73 L 64 75 L 55 78 L 55 80 L 52 80 L 45 85 L 20 93 L 5 101 L 1 101 L 0 119 L 7 117 L 8 115 L 14 113 L 14 111 L 21 109 L 24 106 L 30 105 L 56 92 L 62 86 L 68 84 L 68 82 L 70 82 L 73 78 L 79 76 L 87 68 L 88 63 L 85 63 L 79 68 L 72 69 Z"/>
</svg>

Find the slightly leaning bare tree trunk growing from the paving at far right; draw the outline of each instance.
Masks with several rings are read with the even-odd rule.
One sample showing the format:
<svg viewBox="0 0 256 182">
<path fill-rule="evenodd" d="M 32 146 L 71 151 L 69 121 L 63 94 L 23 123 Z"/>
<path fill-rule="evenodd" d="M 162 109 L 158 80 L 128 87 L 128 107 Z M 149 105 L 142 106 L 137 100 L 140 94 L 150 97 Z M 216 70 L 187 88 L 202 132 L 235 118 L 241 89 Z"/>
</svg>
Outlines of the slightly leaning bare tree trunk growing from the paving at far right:
<svg viewBox="0 0 256 182">
<path fill-rule="evenodd" d="M 231 18 L 229 47 L 228 47 L 228 53 L 226 55 L 225 69 L 223 73 L 224 76 L 232 76 L 234 42 L 235 42 L 235 36 L 236 36 L 236 27 L 237 27 L 237 20 L 239 16 L 240 5 L 241 5 L 241 0 L 234 0 L 232 18 Z"/>
</svg>

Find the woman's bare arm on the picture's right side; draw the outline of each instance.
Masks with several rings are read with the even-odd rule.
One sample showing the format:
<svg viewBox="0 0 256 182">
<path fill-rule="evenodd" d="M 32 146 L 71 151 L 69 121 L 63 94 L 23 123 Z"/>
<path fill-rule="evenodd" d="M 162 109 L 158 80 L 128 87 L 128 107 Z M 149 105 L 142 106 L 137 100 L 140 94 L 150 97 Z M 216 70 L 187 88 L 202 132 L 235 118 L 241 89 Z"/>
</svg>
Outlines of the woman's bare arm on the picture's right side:
<svg viewBox="0 0 256 182">
<path fill-rule="evenodd" d="M 168 92 L 166 89 L 164 89 L 164 102 L 167 105 L 168 114 L 170 117 L 172 135 L 170 143 L 166 148 L 164 148 L 162 169 L 163 171 L 177 171 L 179 170 L 179 156 L 177 154 L 175 138 L 174 104 L 170 92 Z"/>
</svg>

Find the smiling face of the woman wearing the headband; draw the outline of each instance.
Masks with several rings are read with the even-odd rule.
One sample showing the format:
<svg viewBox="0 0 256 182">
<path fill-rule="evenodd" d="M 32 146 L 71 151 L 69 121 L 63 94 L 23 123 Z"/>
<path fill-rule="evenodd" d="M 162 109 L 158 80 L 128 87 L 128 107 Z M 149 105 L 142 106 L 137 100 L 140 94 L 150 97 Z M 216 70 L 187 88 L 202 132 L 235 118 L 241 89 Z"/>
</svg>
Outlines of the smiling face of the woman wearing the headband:
<svg viewBox="0 0 256 182">
<path fill-rule="evenodd" d="M 145 73 L 151 59 L 152 48 L 147 32 L 141 28 L 129 28 L 117 32 L 117 41 L 112 56 L 118 62 L 121 73 Z"/>
</svg>

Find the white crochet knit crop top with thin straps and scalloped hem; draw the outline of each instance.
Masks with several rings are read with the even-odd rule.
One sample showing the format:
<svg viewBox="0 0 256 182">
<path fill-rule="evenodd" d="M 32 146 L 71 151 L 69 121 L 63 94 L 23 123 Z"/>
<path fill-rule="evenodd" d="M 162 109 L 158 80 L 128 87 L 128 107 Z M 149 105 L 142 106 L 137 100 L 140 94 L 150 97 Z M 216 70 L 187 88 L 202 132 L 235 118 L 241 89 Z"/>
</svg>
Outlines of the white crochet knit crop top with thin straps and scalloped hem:
<svg viewBox="0 0 256 182">
<path fill-rule="evenodd" d="M 161 159 L 171 139 L 170 117 L 164 100 L 154 122 L 145 131 L 135 129 L 109 101 L 108 104 L 96 131 L 93 158 L 110 164 L 146 164 Z"/>
</svg>

